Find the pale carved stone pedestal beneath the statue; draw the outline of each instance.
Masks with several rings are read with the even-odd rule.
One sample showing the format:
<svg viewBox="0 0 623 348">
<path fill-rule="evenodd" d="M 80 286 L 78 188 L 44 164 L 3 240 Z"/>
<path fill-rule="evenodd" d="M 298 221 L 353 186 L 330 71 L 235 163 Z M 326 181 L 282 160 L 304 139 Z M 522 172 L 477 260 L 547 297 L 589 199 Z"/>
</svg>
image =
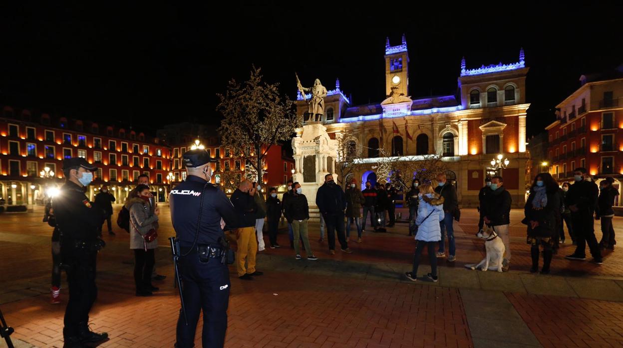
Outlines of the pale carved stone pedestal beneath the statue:
<svg viewBox="0 0 623 348">
<path fill-rule="evenodd" d="M 325 182 L 325 175 L 335 174 L 335 161 L 338 157 L 338 141 L 331 139 L 326 127 L 320 123 L 303 126 L 300 136 L 292 139 L 295 170 L 294 181 L 301 184 L 303 194 L 310 206 L 310 220 L 318 221 L 316 192 Z"/>
</svg>

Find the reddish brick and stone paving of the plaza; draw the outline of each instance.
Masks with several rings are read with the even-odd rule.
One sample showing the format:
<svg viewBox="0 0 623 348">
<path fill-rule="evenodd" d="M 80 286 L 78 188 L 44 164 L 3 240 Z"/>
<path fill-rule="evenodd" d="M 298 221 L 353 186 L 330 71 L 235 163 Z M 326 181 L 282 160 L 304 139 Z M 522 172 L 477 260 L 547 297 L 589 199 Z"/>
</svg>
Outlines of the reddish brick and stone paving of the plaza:
<svg viewBox="0 0 623 348">
<path fill-rule="evenodd" d="M 105 233 L 91 312 L 92 329 L 111 337 L 101 347 L 173 346 L 179 297 L 166 247 L 173 228 L 168 207 L 161 210 L 156 268 L 168 278 L 156 282 L 157 296 L 134 296 L 128 234 L 119 228 L 116 236 Z M 606 253 L 599 266 L 565 260 L 573 247 L 563 245 L 551 275 L 533 275 L 523 210 L 513 210 L 510 271 L 471 271 L 464 265 L 483 258 L 483 242 L 474 237 L 477 212 L 465 209 L 462 215 L 455 223 L 457 261 L 439 259 L 439 283 L 402 276 L 415 247 L 406 223 L 388 233 L 364 232 L 363 243 L 350 243 L 353 254 L 334 256 L 312 225 L 310 242 L 320 258 L 315 262 L 295 260 L 280 233 L 283 247 L 258 255 L 264 276 L 240 281 L 231 268 L 226 347 L 623 346 L 621 251 Z M 16 329 L 17 347 L 62 347 L 67 289 L 62 304 L 49 304 L 52 230 L 41 218 L 40 209 L 0 215 L 0 306 Z M 616 217 L 614 226 L 623 233 L 623 218 Z M 599 240 L 599 222 L 596 230 Z M 424 257 L 419 276 L 427 272 Z M 200 337 L 201 330 L 197 346 Z"/>
</svg>

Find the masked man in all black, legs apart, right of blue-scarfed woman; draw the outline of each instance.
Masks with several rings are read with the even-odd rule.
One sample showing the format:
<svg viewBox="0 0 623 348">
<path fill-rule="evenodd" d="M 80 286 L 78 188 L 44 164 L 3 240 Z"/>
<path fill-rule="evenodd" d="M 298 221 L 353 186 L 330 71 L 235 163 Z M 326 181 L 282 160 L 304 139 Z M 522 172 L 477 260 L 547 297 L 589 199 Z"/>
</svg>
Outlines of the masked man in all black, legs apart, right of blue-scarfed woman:
<svg viewBox="0 0 623 348">
<path fill-rule="evenodd" d="M 584 180 L 586 176 L 585 168 L 576 168 L 573 171 L 574 182 L 564 204 L 571 210 L 571 220 L 573 222 L 573 233 L 576 235 L 576 251 L 564 256 L 569 260 L 586 260 L 586 243 L 593 257 L 594 263 L 601 265 L 601 251 L 597 238 L 595 237 L 593 214 L 597 204 L 598 189 L 593 182 Z"/>
</svg>

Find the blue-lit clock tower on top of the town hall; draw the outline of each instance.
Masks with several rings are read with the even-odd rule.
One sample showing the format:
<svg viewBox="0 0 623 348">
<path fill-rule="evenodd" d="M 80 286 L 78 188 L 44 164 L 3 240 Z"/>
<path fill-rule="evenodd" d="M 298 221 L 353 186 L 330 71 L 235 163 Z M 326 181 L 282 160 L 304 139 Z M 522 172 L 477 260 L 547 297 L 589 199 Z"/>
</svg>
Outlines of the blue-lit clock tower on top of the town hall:
<svg viewBox="0 0 623 348">
<path fill-rule="evenodd" d="M 407 40 L 402 34 L 402 44 L 389 45 L 389 37 L 385 43 L 385 93 L 391 94 L 391 88 L 397 87 L 397 92 L 409 96 L 409 54 Z"/>
</svg>

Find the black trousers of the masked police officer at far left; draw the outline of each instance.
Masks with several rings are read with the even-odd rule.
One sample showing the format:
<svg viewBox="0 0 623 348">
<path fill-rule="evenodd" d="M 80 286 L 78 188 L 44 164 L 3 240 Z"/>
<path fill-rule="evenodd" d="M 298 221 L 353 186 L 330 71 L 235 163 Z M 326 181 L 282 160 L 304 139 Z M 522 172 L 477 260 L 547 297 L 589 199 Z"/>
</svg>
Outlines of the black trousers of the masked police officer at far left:
<svg viewBox="0 0 623 348">
<path fill-rule="evenodd" d="M 67 264 L 69 301 L 65 308 L 63 336 L 78 336 L 78 327 L 88 324 L 88 312 L 97 298 L 95 285 L 95 260 L 97 252 L 81 249 L 62 250 Z"/>
</svg>

